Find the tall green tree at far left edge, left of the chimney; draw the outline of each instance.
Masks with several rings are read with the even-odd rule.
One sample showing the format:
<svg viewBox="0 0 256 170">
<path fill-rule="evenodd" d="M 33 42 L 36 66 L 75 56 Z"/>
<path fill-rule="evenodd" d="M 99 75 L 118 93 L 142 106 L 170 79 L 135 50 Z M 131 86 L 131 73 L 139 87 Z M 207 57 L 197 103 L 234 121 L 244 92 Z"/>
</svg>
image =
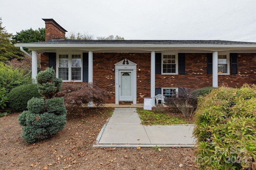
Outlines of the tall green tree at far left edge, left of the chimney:
<svg viewBox="0 0 256 170">
<path fill-rule="evenodd" d="M 23 53 L 11 43 L 12 34 L 7 33 L 0 18 L 0 61 L 22 59 Z"/>
</svg>

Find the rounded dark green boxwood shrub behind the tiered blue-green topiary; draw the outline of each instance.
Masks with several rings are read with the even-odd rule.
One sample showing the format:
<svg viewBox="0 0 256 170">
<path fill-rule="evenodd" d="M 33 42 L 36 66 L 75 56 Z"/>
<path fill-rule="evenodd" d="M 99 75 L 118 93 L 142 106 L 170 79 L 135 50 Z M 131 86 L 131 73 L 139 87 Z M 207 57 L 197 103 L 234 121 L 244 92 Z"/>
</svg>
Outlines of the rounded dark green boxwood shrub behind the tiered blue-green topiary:
<svg viewBox="0 0 256 170">
<path fill-rule="evenodd" d="M 15 111 L 23 111 L 27 109 L 28 100 L 36 97 L 40 98 L 37 84 L 24 84 L 13 88 L 8 94 L 9 107 Z"/>
</svg>

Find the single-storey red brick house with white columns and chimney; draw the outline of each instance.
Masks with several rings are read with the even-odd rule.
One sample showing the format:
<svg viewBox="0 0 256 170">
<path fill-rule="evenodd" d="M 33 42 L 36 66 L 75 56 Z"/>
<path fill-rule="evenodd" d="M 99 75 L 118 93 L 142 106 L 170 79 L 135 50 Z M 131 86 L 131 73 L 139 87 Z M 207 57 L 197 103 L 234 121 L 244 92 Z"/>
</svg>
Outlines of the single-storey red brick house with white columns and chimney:
<svg viewBox="0 0 256 170">
<path fill-rule="evenodd" d="M 32 51 L 32 77 L 53 67 L 63 82 L 93 82 L 111 94 L 107 103 L 143 103 L 170 97 L 179 87 L 256 83 L 256 43 L 221 40 L 65 40 L 64 28 L 43 19 L 46 40 L 19 43 Z"/>
</svg>

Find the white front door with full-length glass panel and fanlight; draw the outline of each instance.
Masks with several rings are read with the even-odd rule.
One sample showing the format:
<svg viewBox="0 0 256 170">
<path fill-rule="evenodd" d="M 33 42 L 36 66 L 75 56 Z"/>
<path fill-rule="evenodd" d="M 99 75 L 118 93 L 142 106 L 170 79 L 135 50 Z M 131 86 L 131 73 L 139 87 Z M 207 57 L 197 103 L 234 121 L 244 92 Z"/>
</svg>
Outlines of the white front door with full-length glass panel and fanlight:
<svg viewBox="0 0 256 170">
<path fill-rule="evenodd" d="M 120 71 L 120 101 L 132 101 L 132 71 Z"/>
</svg>

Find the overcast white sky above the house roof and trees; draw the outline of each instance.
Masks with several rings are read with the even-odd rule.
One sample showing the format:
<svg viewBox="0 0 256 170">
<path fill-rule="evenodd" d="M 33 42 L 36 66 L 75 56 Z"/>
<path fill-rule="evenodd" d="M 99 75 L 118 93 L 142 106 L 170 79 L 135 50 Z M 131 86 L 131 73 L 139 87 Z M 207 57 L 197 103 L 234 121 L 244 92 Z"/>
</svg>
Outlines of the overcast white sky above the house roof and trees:
<svg viewBox="0 0 256 170">
<path fill-rule="evenodd" d="M 0 0 L 0 17 L 13 34 L 52 18 L 94 39 L 256 42 L 256 0 Z"/>
</svg>

